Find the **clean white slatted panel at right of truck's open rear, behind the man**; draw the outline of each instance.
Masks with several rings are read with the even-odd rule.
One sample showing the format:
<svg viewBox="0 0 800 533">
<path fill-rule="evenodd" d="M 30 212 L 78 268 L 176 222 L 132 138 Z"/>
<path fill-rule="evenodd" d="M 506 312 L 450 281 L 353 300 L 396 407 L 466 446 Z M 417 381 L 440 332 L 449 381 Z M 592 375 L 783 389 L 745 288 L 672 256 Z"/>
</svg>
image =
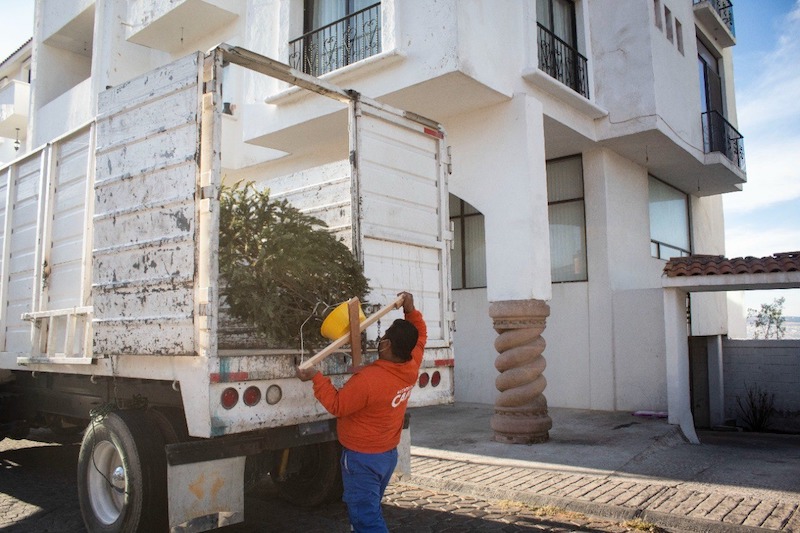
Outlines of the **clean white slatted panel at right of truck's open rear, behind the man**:
<svg viewBox="0 0 800 533">
<path fill-rule="evenodd" d="M 429 345 L 449 345 L 449 241 L 442 211 L 442 139 L 420 124 L 362 105 L 357 114 L 361 255 L 371 299 L 415 293 Z"/>
</svg>

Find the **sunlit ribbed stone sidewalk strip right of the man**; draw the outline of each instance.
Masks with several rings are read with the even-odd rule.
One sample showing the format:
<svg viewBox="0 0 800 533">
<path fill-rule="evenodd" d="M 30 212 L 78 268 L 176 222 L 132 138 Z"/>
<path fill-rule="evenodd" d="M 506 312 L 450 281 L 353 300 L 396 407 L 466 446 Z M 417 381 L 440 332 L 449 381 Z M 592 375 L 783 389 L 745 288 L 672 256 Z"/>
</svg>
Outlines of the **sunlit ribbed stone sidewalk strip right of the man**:
<svg viewBox="0 0 800 533">
<path fill-rule="evenodd" d="M 669 480 L 626 481 L 519 465 L 412 456 L 408 481 L 432 490 L 554 506 L 618 520 L 643 518 L 701 531 L 800 532 L 800 502 L 684 488 Z"/>
</svg>

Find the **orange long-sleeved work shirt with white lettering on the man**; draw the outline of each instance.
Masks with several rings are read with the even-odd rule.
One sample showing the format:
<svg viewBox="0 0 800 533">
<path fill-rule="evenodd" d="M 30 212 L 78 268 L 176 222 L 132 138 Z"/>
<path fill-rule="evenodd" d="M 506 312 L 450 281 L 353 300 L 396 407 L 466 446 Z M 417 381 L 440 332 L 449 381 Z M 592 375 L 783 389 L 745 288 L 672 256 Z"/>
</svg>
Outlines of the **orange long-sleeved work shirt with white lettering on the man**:
<svg viewBox="0 0 800 533">
<path fill-rule="evenodd" d="M 400 442 L 408 398 L 417 382 L 428 340 L 422 313 L 415 309 L 405 318 L 419 332 L 410 361 L 393 363 L 378 359 L 358 370 L 338 390 L 322 372 L 314 376 L 314 396 L 337 418 L 339 442 L 349 450 L 383 453 Z"/>
</svg>

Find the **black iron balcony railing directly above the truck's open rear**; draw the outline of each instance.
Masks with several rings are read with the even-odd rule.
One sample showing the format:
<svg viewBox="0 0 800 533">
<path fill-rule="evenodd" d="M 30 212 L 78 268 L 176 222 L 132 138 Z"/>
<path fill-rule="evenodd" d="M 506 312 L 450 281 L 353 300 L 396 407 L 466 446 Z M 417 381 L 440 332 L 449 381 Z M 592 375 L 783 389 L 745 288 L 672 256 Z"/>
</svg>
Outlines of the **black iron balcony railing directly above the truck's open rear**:
<svg viewBox="0 0 800 533">
<path fill-rule="evenodd" d="M 289 42 L 289 65 L 321 76 L 381 51 L 381 3 Z"/>
</svg>

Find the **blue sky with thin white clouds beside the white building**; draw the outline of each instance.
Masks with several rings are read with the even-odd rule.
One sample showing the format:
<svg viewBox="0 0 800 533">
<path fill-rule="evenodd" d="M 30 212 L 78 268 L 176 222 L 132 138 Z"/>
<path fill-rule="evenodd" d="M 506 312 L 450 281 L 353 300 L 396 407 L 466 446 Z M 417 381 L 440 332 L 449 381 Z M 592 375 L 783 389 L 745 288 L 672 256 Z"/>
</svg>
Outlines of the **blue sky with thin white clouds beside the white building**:
<svg viewBox="0 0 800 533">
<path fill-rule="evenodd" d="M 33 0 L 0 0 L 0 60 L 33 33 Z M 728 257 L 800 251 L 800 0 L 733 0 L 739 131 L 747 180 L 726 194 Z M 745 306 L 784 296 L 800 316 L 800 289 L 750 291 Z"/>
</svg>

